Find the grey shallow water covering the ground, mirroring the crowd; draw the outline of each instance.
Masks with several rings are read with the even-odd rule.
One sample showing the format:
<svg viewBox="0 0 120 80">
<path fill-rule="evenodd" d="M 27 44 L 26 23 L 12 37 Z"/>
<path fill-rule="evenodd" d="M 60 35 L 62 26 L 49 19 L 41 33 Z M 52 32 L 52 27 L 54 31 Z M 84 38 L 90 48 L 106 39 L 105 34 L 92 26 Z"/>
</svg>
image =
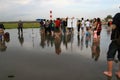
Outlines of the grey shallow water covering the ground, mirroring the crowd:
<svg viewBox="0 0 120 80">
<path fill-rule="evenodd" d="M 38 28 L 24 29 L 23 35 L 18 35 L 17 29 L 5 32 L 10 33 L 10 40 L 0 51 L 0 80 L 107 79 L 102 74 L 107 68 L 110 43 L 106 27 L 103 27 L 100 42 L 93 41 L 92 36 L 78 35 L 76 30 L 60 39 L 44 36 Z M 113 71 L 116 69 L 117 66 Z"/>
</svg>

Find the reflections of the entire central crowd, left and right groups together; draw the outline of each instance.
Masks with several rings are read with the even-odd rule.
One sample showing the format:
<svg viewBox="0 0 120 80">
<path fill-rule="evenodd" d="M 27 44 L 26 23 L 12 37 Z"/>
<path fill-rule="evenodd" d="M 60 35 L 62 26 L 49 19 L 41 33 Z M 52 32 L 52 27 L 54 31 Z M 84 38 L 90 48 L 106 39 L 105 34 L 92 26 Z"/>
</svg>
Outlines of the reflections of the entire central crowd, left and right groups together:
<svg viewBox="0 0 120 80">
<path fill-rule="evenodd" d="M 42 48 L 55 47 L 55 53 L 58 55 L 60 55 L 64 46 L 65 46 L 64 49 L 68 51 L 73 49 L 74 51 L 74 48 L 76 47 L 74 46 L 75 45 L 74 43 L 76 42 L 75 41 L 76 39 L 73 40 L 73 38 L 75 38 L 74 36 L 75 35 L 72 33 L 61 34 L 60 32 L 57 32 L 55 33 L 54 36 L 52 36 L 50 34 L 45 34 L 44 32 L 40 32 L 40 37 L 41 37 L 40 46 Z M 95 39 L 91 41 L 91 34 L 89 32 L 87 32 L 85 35 L 78 34 L 76 38 L 77 38 L 77 46 L 80 47 L 80 51 L 84 50 L 84 45 L 85 45 L 85 50 L 87 48 L 90 49 L 92 58 L 94 58 L 97 61 L 100 55 L 100 41 Z M 92 45 L 92 47 L 90 44 Z"/>
</svg>

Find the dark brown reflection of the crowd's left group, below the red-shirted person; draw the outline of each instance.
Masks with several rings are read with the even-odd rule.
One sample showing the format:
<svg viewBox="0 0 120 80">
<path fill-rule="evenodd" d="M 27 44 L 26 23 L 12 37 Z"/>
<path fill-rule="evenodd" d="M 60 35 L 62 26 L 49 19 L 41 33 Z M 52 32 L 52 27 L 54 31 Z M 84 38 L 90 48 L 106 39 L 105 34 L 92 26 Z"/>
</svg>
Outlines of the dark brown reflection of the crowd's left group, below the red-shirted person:
<svg viewBox="0 0 120 80">
<path fill-rule="evenodd" d="M 73 34 L 61 34 L 61 32 L 55 32 L 55 35 L 52 36 L 50 34 L 45 34 L 44 32 L 40 32 L 40 46 L 42 48 L 46 47 L 54 47 L 55 46 L 55 53 L 61 53 L 61 42 L 65 46 L 66 50 L 68 49 L 68 43 L 71 45 L 72 50 L 72 43 L 73 43 Z"/>
</svg>

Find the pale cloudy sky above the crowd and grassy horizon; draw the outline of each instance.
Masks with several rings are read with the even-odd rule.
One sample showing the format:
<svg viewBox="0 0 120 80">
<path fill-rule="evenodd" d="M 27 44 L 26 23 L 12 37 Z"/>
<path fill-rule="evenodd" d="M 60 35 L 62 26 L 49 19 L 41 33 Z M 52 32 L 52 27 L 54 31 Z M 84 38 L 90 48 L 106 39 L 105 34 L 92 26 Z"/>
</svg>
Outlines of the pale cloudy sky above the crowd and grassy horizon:
<svg viewBox="0 0 120 80">
<path fill-rule="evenodd" d="M 104 19 L 120 12 L 120 0 L 0 0 L 0 21 L 52 18 Z"/>
</svg>

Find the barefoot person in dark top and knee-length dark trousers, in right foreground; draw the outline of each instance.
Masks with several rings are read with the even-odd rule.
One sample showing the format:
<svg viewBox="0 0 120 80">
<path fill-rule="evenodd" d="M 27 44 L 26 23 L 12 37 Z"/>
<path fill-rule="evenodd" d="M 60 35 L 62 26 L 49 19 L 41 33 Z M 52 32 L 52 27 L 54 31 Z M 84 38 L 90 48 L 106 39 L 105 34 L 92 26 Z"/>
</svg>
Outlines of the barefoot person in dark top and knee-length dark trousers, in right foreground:
<svg viewBox="0 0 120 80">
<path fill-rule="evenodd" d="M 120 45 L 117 43 L 117 39 L 120 36 L 120 13 L 117 13 L 113 18 L 112 34 L 111 34 L 111 43 L 107 52 L 107 71 L 104 71 L 104 74 L 108 77 L 112 77 L 112 68 L 113 60 L 118 51 L 118 60 L 120 61 Z M 119 31 L 119 34 L 116 32 Z M 120 43 L 120 41 L 119 41 Z M 116 75 L 120 78 L 120 65 L 119 70 L 116 72 Z"/>
</svg>

